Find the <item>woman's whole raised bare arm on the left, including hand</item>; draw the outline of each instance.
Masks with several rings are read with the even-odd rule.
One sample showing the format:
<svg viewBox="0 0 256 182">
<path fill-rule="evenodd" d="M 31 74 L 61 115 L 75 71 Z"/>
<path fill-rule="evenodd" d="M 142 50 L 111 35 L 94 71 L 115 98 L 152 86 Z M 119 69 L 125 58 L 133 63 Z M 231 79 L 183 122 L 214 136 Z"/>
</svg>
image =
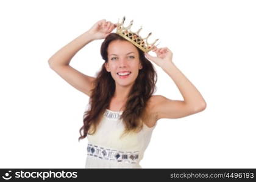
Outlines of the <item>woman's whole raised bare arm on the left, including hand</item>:
<svg viewBox="0 0 256 182">
<path fill-rule="evenodd" d="M 52 55 L 48 60 L 49 67 L 71 86 L 90 96 L 95 78 L 85 75 L 69 66 L 69 62 L 85 45 L 93 40 L 105 38 L 115 27 L 115 24 L 106 22 L 105 19 L 96 22 L 90 30 L 78 36 Z"/>
</svg>

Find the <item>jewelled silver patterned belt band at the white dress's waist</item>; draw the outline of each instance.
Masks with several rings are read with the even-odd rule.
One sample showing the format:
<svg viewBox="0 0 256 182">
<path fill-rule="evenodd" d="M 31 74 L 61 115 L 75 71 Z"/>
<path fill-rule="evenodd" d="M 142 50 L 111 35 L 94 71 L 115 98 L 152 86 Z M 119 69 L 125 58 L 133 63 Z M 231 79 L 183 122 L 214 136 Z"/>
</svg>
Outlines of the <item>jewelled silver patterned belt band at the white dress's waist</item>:
<svg viewBox="0 0 256 182">
<path fill-rule="evenodd" d="M 87 155 L 101 158 L 103 160 L 117 161 L 136 164 L 138 162 L 138 153 L 135 152 L 124 152 L 116 149 L 110 149 L 102 146 L 96 146 L 88 144 Z"/>
</svg>

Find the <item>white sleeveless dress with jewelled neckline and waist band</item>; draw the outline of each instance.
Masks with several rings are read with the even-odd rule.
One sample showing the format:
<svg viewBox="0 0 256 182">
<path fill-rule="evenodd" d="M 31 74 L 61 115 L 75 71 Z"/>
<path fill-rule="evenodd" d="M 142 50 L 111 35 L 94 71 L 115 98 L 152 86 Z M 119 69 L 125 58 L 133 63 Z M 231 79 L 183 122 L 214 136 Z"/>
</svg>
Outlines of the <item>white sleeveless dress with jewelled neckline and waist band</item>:
<svg viewBox="0 0 256 182">
<path fill-rule="evenodd" d="M 142 168 L 140 161 L 151 140 L 155 126 L 119 138 L 124 124 L 119 119 L 123 111 L 105 110 L 101 123 L 93 135 L 87 135 L 85 168 Z"/>
</svg>

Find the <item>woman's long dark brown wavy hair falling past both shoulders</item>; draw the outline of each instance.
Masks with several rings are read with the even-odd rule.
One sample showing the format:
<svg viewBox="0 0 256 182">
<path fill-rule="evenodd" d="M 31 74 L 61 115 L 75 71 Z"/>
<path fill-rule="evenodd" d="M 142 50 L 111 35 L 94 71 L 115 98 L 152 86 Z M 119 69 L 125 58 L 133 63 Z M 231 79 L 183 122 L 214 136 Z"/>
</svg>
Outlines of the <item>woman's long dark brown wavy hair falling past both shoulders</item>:
<svg viewBox="0 0 256 182">
<path fill-rule="evenodd" d="M 105 62 L 108 62 L 108 45 L 115 40 L 127 41 L 116 33 L 110 33 L 101 44 L 101 56 Z M 125 126 L 123 134 L 142 129 L 143 123 L 141 117 L 146 112 L 148 100 L 156 89 L 157 73 L 155 72 L 154 66 L 151 61 L 146 59 L 144 52 L 138 49 L 138 47 L 136 48 L 143 69 L 139 70 L 135 83 L 130 89 L 125 110 L 120 118 L 123 119 Z M 110 101 L 115 93 L 115 80 L 112 78 L 111 73 L 107 72 L 104 64 L 102 64 L 101 70 L 96 73 L 96 79 L 93 82 L 94 87 L 89 100 L 90 108 L 84 112 L 84 126 L 79 130 L 79 141 L 85 138 L 87 134 L 93 135 L 96 132 L 96 128 L 101 121 L 105 109 L 110 105 Z"/>
</svg>

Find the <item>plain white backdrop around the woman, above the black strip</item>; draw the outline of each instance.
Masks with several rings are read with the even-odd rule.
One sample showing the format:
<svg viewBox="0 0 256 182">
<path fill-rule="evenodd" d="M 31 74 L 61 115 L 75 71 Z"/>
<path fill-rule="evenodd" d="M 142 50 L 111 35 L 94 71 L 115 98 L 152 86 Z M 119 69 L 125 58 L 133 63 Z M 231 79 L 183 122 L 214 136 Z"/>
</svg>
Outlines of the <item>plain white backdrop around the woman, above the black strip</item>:
<svg viewBox="0 0 256 182">
<path fill-rule="evenodd" d="M 87 138 L 78 142 L 88 96 L 48 66 L 57 50 L 100 19 L 133 19 L 152 32 L 201 92 L 207 108 L 158 120 L 143 168 L 256 167 L 255 1 L 1 1 L 0 167 L 84 168 Z M 103 39 L 71 66 L 95 76 Z M 154 53 L 151 53 L 154 55 Z M 154 64 L 154 63 L 153 63 Z M 182 100 L 157 68 L 156 95 Z"/>
</svg>

